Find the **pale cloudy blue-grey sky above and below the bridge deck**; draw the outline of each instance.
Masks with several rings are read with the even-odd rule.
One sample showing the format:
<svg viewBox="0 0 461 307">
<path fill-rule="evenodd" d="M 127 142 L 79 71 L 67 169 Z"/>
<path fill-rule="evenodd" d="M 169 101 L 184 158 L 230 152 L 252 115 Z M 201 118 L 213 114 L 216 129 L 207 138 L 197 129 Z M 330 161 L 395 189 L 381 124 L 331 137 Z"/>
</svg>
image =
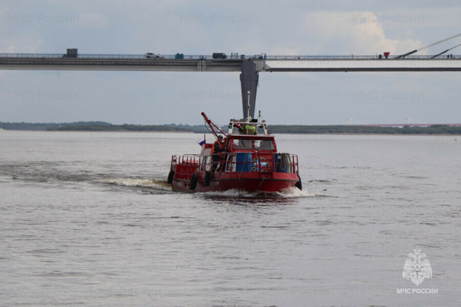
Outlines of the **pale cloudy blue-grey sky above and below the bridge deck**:
<svg viewBox="0 0 461 307">
<path fill-rule="evenodd" d="M 461 33 L 459 1 L 0 2 L 0 53 L 403 54 Z M 437 54 L 461 37 L 417 54 Z M 461 47 L 453 55 L 461 54 Z M 272 124 L 461 123 L 459 72 L 260 73 Z M 242 117 L 238 72 L 0 70 L 0 121 Z"/>
</svg>

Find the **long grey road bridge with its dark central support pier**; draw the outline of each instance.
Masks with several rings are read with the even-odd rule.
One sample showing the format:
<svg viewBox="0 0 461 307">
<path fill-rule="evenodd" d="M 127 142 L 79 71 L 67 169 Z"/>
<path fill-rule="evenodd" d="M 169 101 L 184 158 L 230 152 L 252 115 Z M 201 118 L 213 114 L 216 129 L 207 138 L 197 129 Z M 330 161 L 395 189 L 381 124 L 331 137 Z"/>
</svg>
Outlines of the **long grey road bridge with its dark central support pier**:
<svg viewBox="0 0 461 307">
<path fill-rule="evenodd" d="M 76 50 L 75 50 L 76 51 Z M 461 71 L 460 55 L 212 55 L 0 53 L 0 70 L 240 72 L 243 115 L 254 117 L 261 72 L 449 72 Z"/>
</svg>

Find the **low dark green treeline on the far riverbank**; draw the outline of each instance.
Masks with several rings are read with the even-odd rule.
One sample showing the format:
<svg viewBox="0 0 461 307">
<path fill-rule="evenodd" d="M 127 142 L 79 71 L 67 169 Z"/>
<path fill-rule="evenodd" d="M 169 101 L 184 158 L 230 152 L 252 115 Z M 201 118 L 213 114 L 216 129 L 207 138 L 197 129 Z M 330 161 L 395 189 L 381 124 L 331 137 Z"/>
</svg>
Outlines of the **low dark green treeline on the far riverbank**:
<svg viewBox="0 0 461 307">
<path fill-rule="evenodd" d="M 226 126 L 223 130 L 227 131 Z M 73 122 L 73 123 L 4 123 L 0 128 L 6 130 L 48 130 L 48 131 L 183 131 L 207 133 L 202 125 L 113 125 L 107 122 Z M 273 133 L 298 133 L 298 134 L 445 134 L 461 135 L 461 126 L 432 125 L 430 127 L 369 127 L 353 125 L 273 125 L 269 126 Z"/>
</svg>

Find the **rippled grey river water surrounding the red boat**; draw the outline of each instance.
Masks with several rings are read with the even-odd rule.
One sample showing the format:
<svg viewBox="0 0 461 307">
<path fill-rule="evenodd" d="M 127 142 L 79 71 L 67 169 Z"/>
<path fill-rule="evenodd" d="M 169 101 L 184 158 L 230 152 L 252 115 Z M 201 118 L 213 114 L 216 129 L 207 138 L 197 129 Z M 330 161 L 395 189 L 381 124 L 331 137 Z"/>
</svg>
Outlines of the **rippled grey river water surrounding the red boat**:
<svg viewBox="0 0 461 307">
<path fill-rule="evenodd" d="M 461 305 L 455 137 L 278 135 L 303 191 L 172 192 L 198 139 L 0 131 L 0 305 Z"/>
</svg>

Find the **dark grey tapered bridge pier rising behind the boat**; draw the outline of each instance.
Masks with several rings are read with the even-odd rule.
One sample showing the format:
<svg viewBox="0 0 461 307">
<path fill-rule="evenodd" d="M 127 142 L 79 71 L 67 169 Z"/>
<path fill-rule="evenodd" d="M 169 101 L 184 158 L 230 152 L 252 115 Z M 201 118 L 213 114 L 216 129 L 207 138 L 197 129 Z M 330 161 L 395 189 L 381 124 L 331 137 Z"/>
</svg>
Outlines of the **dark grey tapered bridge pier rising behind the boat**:
<svg viewBox="0 0 461 307">
<path fill-rule="evenodd" d="M 256 89 L 258 86 L 256 64 L 251 60 L 242 61 L 241 70 L 240 84 L 242 86 L 243 118 L 246 118 L 248 113 L 248 91 L 250 92 L 250 116 L 255 118 Z"/>
</svg>

